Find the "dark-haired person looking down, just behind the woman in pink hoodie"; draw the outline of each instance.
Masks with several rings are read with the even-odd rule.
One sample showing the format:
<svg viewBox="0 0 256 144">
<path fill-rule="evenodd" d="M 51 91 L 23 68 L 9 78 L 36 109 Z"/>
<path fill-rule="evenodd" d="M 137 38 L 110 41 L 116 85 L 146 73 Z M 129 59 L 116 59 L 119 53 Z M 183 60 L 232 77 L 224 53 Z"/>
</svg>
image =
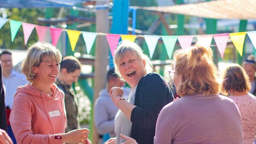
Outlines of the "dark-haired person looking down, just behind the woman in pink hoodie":
<svg viewBox="0 0 256 144">
<path fill-rule="evenodd" d="M 77 82 L 81 74 L 81 63 L 73 56 L 66 56 L 61 60 L 60 73 L 56 81 L 58 88 L 63 90 L 65 98 L 65 108 L 67 113 L 67 129 L 65 132 L 79 128 L 78 101 L 73 82 Z"/>
</svg>

